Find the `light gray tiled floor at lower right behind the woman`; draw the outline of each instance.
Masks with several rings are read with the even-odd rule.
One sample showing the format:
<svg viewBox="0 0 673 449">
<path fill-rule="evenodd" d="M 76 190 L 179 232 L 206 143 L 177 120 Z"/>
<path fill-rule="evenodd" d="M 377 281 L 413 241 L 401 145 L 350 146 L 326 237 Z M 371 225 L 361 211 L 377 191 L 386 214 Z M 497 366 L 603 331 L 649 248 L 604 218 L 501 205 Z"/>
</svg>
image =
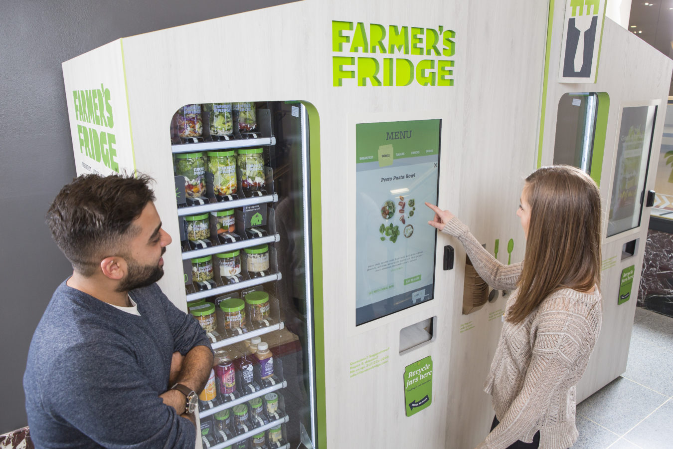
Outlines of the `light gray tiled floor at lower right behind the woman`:
<svg viewBox="0 0 673 449">
<path fill-rule="evenodd" d="M 673 318 L 637 308 L 627 371 L 577 405 L 573 449 L 673 448 Z"/>
</svg>

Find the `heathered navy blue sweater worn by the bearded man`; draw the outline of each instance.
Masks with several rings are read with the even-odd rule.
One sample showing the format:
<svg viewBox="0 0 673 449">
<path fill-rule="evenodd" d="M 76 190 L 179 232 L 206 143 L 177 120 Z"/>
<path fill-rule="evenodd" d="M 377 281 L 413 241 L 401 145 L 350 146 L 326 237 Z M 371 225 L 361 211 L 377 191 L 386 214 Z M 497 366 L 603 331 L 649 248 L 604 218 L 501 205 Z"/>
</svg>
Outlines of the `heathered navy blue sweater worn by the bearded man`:
<svg viewBox="0 0 673 449">
<path fill-rule="evenodd" d="M 26 412 L 36 448 L 193 448 L 194 425 L 164 405 L 172 353 L 209 346 L 161 289 L 132 290 L 141 316 L 65 281 L 30 343 Z"/>
</svg>

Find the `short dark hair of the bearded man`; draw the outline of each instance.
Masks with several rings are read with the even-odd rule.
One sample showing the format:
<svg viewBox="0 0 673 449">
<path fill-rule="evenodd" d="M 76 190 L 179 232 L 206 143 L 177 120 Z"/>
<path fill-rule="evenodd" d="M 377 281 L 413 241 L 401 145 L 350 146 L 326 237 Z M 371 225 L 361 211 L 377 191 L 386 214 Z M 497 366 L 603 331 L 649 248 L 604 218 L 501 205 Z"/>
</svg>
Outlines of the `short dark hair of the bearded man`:
<svg viewBox="0 0 673 449">
<path fill-rule="evenodd" d="M 133 235 L 131 222 L 154 201 L 145 174 L 83 174 L 61 188 L 46 213 L 52 238 L 73 265 L 91 276 L 102 259 L 121 255 L 122 240 Z"/>
</svg>

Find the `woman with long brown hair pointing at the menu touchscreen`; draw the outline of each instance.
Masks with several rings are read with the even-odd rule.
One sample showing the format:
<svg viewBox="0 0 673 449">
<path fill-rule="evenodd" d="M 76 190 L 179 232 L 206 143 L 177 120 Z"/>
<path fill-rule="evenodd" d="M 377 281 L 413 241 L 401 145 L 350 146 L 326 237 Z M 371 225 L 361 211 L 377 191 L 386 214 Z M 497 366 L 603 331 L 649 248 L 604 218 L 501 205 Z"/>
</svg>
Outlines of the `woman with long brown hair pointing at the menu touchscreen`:
<svg viewBox="0 0 673 449">
<path fill-rule="evenodd" d="M 491 433 L 478 448 L 565 449 L 577 440 L 575 384 L 601 324 L 600 195 L 578 168 L 543 167 L 526 178 L 517 215 L 525 263 L 503 265 L 449 211 L 428 223 L 462 243 L 494 289 L 513 290 L 485 383 Z"/>
</svg>

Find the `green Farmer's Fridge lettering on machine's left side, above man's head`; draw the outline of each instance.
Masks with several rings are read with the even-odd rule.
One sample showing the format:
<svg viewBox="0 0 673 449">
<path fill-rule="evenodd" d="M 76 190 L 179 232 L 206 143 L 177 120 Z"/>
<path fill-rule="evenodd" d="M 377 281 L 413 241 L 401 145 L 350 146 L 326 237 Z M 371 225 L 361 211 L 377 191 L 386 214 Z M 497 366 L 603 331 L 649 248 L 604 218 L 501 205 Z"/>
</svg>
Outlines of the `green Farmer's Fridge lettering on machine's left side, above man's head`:
<svg viewBox="0 0 673 449">
<path fill-rule="evenodd" d="M 116 138 L 110 132 L 114 128 L 111 98 L 102 84 L 100 89 L 73 90 L 80 153 L 119 172 Z"/>
</svg>

